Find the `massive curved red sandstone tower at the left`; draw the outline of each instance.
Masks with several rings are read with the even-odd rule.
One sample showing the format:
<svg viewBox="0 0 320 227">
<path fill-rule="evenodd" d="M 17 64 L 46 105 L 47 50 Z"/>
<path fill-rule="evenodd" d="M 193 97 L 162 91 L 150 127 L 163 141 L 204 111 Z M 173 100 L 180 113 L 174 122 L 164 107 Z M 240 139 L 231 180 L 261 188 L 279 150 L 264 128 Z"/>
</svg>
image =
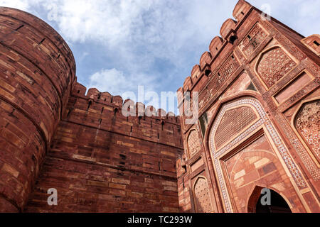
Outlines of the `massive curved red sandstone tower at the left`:
<svg viewBox="0 0 320 227">
<path fill-rule="evenodd" d="M 0 7 L 0 212 L 26 204 L 74 81 L 63 38 L 29 13 Z"/>
</svg>

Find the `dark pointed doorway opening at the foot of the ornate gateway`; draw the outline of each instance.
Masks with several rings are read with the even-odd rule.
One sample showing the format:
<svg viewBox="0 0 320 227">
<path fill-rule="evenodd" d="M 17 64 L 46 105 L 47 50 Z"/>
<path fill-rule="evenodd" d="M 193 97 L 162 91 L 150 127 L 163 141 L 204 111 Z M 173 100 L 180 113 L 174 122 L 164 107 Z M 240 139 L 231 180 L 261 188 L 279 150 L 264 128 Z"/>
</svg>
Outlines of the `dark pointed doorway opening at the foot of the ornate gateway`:
<svg viewBox="0 0 320 227">
<path fill-rule="evenodd" d="M 248 212 L 252 213 L 292 213 L 287 201 L 272 189 L 262 191 L 262 187 L 256 187 L 250 196 Z M 262 193 L 263 192 L 263 193 Z M 267 194 L 268 193 L 268 194 Z M 266 196 L 270 196 L 266 204 Z"/>
</svg>

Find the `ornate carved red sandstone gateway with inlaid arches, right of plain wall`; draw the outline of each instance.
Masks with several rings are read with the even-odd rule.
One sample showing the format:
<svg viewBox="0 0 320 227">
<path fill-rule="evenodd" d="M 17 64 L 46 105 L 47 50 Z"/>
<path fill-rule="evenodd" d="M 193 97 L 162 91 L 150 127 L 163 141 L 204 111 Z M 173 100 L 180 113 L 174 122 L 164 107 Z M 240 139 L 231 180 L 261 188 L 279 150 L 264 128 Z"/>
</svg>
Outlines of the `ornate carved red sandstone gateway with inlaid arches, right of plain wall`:
<svg viewBox="0 0 320 227">
<path fill-rule="evenodd" d="M 242 0 L 233 16 L 178 89 L 181 209 L 319 212 L 320 35 L 304 38 Z M 186 124 L 196 99 L 198 121 Z"/>
</svg>

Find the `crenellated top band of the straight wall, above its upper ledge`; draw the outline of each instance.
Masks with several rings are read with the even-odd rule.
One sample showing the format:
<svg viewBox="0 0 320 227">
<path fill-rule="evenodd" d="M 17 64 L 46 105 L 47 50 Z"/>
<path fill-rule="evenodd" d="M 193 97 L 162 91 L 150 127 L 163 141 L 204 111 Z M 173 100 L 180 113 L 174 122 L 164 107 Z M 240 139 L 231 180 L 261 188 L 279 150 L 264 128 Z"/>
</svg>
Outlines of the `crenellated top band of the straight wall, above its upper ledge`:
<svg viewBox="0 0 320 227">
<path fill-rule="evenodd" d="M 182 148 L 180 117 L 75 83 L 63 121 Z M 127 108 L 124 110 L 124 108 Z"/>
</svg>

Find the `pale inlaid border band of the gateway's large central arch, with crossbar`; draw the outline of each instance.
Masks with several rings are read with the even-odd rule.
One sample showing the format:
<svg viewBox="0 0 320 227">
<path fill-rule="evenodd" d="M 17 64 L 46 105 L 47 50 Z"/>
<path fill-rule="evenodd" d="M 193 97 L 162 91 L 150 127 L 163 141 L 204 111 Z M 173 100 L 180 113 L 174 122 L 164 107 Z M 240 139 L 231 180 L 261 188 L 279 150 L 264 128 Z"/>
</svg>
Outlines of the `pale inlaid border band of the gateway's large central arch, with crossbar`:
<svg viewBox="0 0 320 227">
<path fill-rule="evenodd" d="M 252 126 L 247 128 L 246 131 L 244 131 L 243 133 L 238 135 L 236 138 L 231 140 L 230 143 L 227 143 L 223 148 L 220 148 L 220 150 L 215 150 L 215 145 L 214 145 L 215 131 L 218 128 L 218 123 L 221 121 L 221 118 L 223 117 L 225 112 L 228 111 L 228 109 L 233 109 L 237 106 L 242 106 L 242 105 L 250 105 L 253 108 L 255 108 L 255 110 L 259 114 L 260 119 L 256 121 Z M 284 146 L 284 143 L 282 142 L 281 138 L 279 137 L 279 134 L 275 130 L 274 126 L 272 125 L 265 110 L 262 108 L 260 102 L 251 97 L 238 99 L 236 101 L 225 104 L 223 106 L 223 108 L 220 110 L 218 114 L 218 117 L 213 123 L 212 129 L 210 131 L 210 137 L 209 137 L 209 145 L 210 145 L 211 154 L 213 155 L 213 163 L 215 165 L 215 170 L 217 172 L 218 183 L 220 184 L 220 189 L 221 189 L 221 194 L 225 204 L 225 209 L 228 213 L 232 212 L 233 209 L 231 206 L 231 202 L 229 200 L 228 189 L 225 184 L 225 179 L 223 177 L 223 170 L 220 164 L 219 157 L 221 155 L 224 155 L 225 153 L 228 153 L 228 151 L 234 148 L 235 145 L 240 143 L 240 141 L 245 140 L 245 138 L 247 138 L 251 133 L 257 130 L 257 128 L 260 128 L 262 125 L 265 125 L 265 128 L 269 133 L 270 138 L 272 139 L 275 147 L 277 148 L 277 151 L 281 155 L 282 160 L 284 160 L 284 163 L 287 166 L 290 174 L 292 175 L 294 182 L 297 184 L 297 186 L 300 189 L 306 188 L 306 182 L 302 177 L 302 173 L 299 171 L 299 169 L 297 168 L 297 165 L 295 165 L 294 161 L 292 160 L 292 157 L 289 155 L 287 148 Z"/>
</svg>

